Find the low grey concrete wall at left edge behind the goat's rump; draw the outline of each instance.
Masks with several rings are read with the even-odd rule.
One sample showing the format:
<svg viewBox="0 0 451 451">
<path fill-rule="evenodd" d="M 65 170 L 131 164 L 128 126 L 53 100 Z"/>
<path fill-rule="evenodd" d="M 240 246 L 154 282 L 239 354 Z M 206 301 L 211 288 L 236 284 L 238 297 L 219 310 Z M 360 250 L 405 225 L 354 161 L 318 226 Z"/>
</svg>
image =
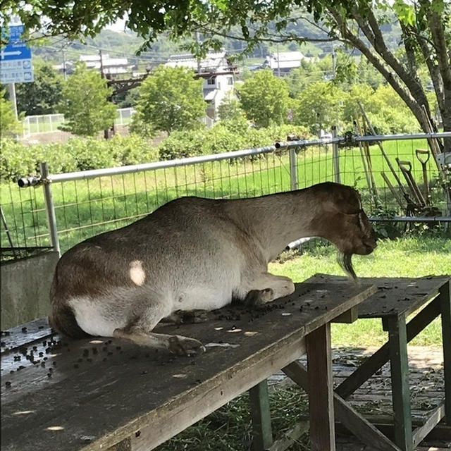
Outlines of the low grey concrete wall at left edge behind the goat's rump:
<svg viewBox="0 0 451 451">
<path fill-rule="evenodd" d="M 57 262 L 58 252 L 44 252 L 1 264 L 1 330 L 49 314 L 49 291 Z"/>
</svg>

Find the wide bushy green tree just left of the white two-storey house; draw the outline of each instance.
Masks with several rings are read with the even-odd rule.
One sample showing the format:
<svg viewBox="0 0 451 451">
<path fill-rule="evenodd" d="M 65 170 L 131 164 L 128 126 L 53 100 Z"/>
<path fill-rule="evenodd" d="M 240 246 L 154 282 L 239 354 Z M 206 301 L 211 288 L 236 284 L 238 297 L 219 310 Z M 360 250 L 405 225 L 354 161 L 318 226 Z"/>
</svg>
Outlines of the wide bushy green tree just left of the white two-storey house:
<svg viewBox="0 0 451 451">
<path fill-rule="evenodd" d="M 202 94 L 202 80 L 194 80 L 194 72 L 187 68 L 159 66 L 138 88 L 139 97 L 134 127 L 144 125 L 149 134 L 187 130 L 202 126 L 206 102 Z"/>
</svg>

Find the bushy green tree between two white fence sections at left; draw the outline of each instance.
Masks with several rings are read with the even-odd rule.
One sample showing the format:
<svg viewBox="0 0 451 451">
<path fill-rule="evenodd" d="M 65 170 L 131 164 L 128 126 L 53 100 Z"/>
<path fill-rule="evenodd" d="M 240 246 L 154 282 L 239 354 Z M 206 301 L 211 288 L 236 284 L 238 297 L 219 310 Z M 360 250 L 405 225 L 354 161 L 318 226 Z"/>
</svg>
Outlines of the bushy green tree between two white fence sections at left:
<svg viewBox="0 0 451 451">
<path fill-rule="evenodd" d="M 64 82 L 61 112 L 66 123 L 61 130 L 75 135 L 94 136 L 110 128 L 116 118 L 116 106 L 108 101 L 113 89 L 106 86 L 97 70 L 77 63 L 73 75 Z"/>
</svg>

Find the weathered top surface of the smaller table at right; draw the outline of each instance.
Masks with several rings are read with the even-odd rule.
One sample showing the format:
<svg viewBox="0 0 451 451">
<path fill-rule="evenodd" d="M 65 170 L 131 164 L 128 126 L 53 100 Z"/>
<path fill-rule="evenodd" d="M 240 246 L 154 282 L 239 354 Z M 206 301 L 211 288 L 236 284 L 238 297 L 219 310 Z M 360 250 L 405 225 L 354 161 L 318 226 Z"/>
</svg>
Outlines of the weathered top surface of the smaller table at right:
<svg viewBox="0 0 451 451">
<path fill-rule="evenodd" d="M 316 274 L 315 282 L 328 284 L 343 283 L 341 276 Z M 428 300 L 438 295 L 440 288 L 450 280 L 450 276 L 426 276 L 421 278 L 371 278 L 362 277 L 365 285 L 376 285 L 377 292 L 359 305 L 359 318 L 384 318 L 405 316 L 422 307 Z"/>
</svg>

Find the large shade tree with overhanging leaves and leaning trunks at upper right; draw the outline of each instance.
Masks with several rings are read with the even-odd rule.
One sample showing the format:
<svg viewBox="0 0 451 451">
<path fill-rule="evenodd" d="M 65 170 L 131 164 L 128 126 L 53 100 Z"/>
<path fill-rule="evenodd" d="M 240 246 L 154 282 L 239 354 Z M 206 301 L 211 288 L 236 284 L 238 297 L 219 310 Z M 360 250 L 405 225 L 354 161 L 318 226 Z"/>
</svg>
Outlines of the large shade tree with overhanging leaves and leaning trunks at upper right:
<svg viewBox="0 0 451 451">
<path fill-rule="evenodd" d="M 261 42 L 342 41 L 362 52 L 388 84 L 395 89 L 428 131 L 432 120 L 428 98 L 418 77 L 426 64 L 431 77 L 443 129 L 451 131 L 451 2 L 448 0 L 130 0 L 105 4 L 100 0 L 61 0 L 58 8 L 39 0 L 0 0 L 0 23 L 19 16 L 28 29 L 47 34 L 94 35 L 105 25 L 128 15 L 127 26 L 147 39 L 157 39 L 162 31 L 179 38 L 198 31 L 203 42 L 193 49 L 218 48 L 221 39 L 233 30 L 243 39 L 247 51 Z M 297 33 L 297 21 L 311 13 L 323 37 L 304 37 Z M 399 20 L 405 58 L 400 58 L 385 42 L 383 25 Z M 311 16 L 307 17 L 308 19 Z M 3 20 L 2 20 L 3 19 Z M 48 20 L 50 19 L 50 20 Z M 237 34 L 236 29 L 240 30 Z M 273 31 L 275 30 L 275 31 Z M 451 140 L 445 145 L 451 149 Z"/>
</svg>

